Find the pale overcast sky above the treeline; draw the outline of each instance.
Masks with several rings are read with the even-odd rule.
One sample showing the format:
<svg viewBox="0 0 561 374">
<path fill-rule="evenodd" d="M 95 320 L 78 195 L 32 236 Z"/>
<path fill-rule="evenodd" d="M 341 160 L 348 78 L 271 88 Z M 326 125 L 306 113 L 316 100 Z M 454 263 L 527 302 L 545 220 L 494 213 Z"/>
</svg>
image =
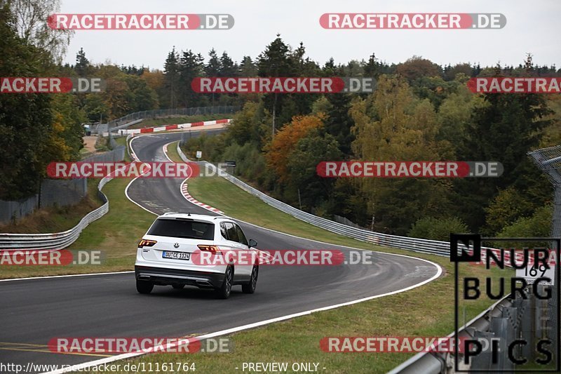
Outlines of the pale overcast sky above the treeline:
<svg viewBox="0 0 561 374">
<path fill-rule="evenodd" d="M 388 63 L 421 55 L 441 65 L 480 62 L 518 65 L 525 53 L 539 65 L 561 67 L 560 0 L 62 0 L 60 13 L 229 13 L 229 30 L 77 30 L 65 60 L 74 64 L 83 47 L 90 62 L 162 69 L 173 46 L 207 58 L 214 47 L 240 61 L 255 58 L 280 33 L 290 46 L 323 65 L 367 60 L 372 52 Z M 503 29 L 368 29 L 320 27 L 323 13 L 503 13 Z"/>
</svg>

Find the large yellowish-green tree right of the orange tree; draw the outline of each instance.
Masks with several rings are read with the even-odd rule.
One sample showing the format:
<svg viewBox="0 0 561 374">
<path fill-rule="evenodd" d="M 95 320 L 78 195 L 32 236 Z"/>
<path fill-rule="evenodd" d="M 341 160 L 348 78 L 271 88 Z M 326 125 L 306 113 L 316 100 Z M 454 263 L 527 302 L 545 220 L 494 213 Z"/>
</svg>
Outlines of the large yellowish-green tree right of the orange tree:
<svg viewBox="0 0 561 374">
<path fill-rule="evenodd" d="M 355 122 L 353 152 L 360 160 L 426 161 L 450 155 L 435 138 L 431 103 L 414 98 L 403 79 L 381 75 L 377 91 L 354 100 L 350 113 Z M 421 216 L 439 216 L 450 208 L 452 185 L 447 180 L 363 178 L 356 183 L 367 199 L 365 209 L 385 232 L 405 234 Z"/>
</svg>

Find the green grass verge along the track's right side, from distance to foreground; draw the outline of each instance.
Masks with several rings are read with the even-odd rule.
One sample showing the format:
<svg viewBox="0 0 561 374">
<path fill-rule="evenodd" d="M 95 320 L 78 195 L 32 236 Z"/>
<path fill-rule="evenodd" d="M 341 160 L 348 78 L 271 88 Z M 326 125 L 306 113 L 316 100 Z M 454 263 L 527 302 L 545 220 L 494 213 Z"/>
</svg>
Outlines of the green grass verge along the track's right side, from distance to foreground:
<svg viewBox="0 0 561 374">
<path fill-rule="evenodd" d="M 179 159 L 176 143 L 168 147 L 168 155 Z M 320 350 L 321 338 L 328 336 L 426 336 L 439 337 L 454 328 L 454 267 L 450 260 L 434 255 L 374 246 L 346 236 L 339 236 L 280 213 L 223 178 L 194 178 L 189 192 L 199 201 L 219 208 L 228 215 L 262 227 L 377 251 L 413 255 L 436 262 L 444 270 L 430 285 L 405 293 L 386 296 L 356 305 L 318 312 L 280 323 L 229 335 L 234 352 L 229 354 L 149 354 L 130 359 L 133 363 L 194 362 L 200 373 L 236 373 L 243 362 L 317 362 L 324 373 L 385 373 L 412 354 L 339 354 Z M 463 272 L 484 276 L 485 269 L 461 265 Z M 497 276 L 497 272 L 494 272 Z M 259 292 L 259 291 L 257 291 Z M 488 301 L 466 303 L 469 320 L 487 308 Z M 178 331 L 177 333 L 181 333 Z M 126 361 L 120 361 L 121 364 Z M 95 373 L 95 370 L 91 371 Z"/>
</svg>

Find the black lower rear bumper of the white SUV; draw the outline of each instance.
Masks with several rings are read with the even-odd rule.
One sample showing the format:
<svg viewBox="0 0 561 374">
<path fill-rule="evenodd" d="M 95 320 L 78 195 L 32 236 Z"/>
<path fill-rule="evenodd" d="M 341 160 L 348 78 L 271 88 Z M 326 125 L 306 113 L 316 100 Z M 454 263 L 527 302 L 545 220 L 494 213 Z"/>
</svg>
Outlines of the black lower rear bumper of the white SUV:
<svg viewBox="0 0 561 374">
<path fill-rule="evenodd" d="M 139 265 L 135 265 L 135 277 L 138 281 L 151 281 L 159 286 L 184 284 L 200 288 L 218 288 L 224 281 L 224 274 L 220 273 Z"/>
</svg>

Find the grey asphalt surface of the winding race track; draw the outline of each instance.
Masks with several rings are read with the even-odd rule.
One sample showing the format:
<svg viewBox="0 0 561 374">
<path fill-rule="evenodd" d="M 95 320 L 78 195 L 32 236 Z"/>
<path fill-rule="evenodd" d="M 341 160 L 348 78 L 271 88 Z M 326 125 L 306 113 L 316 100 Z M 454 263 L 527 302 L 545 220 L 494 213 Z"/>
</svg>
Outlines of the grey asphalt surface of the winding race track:
<svg viewBox="0 0 561 374">
<path fill-rule="evenodd" d="M 132 147 L 141 161 L 165 161 L 163 145 L 180 137 L 180 133 L 142 136 L 133 140 Z M 157 214 L 216 214 L 184 199 L 181 182 L 139 178 L 130 183 L 127 193 L 135 203 Z M 240 225 L 262 249 L 351 250 L 245 222 Z M 24 367 L 29 361 L 94 361 L 103 357 L 53 354 L 45 345 L 55 337 L 203 335 L 397 293 L 435 279 L 441 272 L 432 262 L 408 256 L 374 253 L 372 260 L 372 265 L 263 266 L 255 294 L 245 295 L 238 286 L 229 300 L 215 300 L 211 292 L 197 288 L 156 286 L 151 295 L 140 295 L 132 272 L 1 281 L 5 323 L 0 329 L 0 361 Z M 130 265 L 132 268 L 132 259 Z M 3 349 L 4 342 L 17 349 Z"/>
</svg>

